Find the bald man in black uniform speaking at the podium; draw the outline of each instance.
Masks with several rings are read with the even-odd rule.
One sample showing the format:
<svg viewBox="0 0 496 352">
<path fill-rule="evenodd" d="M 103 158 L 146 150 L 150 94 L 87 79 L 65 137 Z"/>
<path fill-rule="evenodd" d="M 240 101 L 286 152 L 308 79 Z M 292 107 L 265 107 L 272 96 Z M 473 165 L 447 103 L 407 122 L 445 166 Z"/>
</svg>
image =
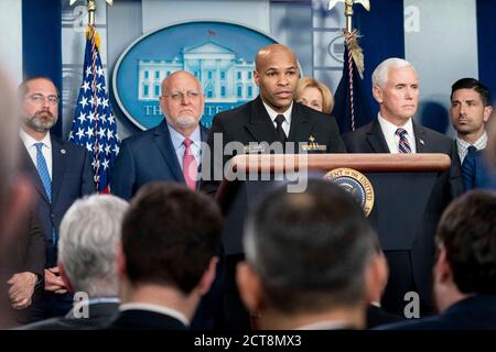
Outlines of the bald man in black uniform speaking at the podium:
<svg viewBox="0 0 496 352">
<path fill-rule="evenodd" d="M 294 53 L 282 44 L 271 44 L 261 48 L 255 61 L 254 79 L 260 95 L 214 117 L 208 134 L 211 168 L 204 167 L 202 184 L 207 194 L 215 194 L 224 165 L 234 156 L 224 155 L 228 143 L 238 143 L 245 153 L 300 153 L 299 142 L 317 146 L 313 151 L 320 153 L 345 152 L 335 119 L 293 100 L 300 77 Z M 252 142 L 266 145 L 250 148 Z M 238 152 L 244 153 L 242 148 Z"/>
</svg>

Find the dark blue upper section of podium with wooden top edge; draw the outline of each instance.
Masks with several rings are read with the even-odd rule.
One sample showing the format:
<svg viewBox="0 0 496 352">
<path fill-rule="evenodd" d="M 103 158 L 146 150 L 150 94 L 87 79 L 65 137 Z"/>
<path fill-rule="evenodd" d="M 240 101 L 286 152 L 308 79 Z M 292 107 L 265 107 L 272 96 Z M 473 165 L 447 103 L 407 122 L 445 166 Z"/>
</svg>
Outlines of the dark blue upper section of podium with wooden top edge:
<svg viewBox="0 0 496 352">
<path fill-rule="evenodd" d="M 435 229 L 435 224 L 425 229 L 422 220 L 430 218 L 424 212 L 439 173 L 451 166 L 445 154 L 263 154 L 237 155 L 229 163 L 237 177 L 224 179 L 216 194 L 225 215 L 227 255 L 242 253 L 245 218 L 267 190 L 298 177 L 320 178 L 339 167 L 358 170 L 370 180 L 375 201 L 368 218 L 382 250 L 409 250 L 419 231 Z"/>
</svg>

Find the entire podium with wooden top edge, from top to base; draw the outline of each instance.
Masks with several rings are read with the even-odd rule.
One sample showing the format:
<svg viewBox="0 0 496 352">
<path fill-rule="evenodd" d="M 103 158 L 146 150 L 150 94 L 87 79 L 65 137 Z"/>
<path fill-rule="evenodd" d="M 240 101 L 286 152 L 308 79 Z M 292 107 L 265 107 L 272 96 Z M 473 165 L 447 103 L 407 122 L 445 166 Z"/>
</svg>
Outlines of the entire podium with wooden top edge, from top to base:
<svg viewBox="0 0 496 352">
<path fill-rule="evenodd" d="M 248 212 L 263 194 L 278 185 L 288 187 L 303 178 L 322 178 L 342 167 L 363 173 L 374 189 L 368 219 L 378 234 L 390 274 L 382 296 L 384 307 L 390 312 L 402 312 L 405 294 L 414 289 L 429 311 L 433 239 L 439 218 L 451 200 L 450 156 L 422 153 L 237 155 L 227 164 L 231 173 L 216 193 L 225 217 L 227 326 L 249 328 L 249 316 L 235 280 L 236 264 L 244 258 L 242 232 Z"/>
</svg>

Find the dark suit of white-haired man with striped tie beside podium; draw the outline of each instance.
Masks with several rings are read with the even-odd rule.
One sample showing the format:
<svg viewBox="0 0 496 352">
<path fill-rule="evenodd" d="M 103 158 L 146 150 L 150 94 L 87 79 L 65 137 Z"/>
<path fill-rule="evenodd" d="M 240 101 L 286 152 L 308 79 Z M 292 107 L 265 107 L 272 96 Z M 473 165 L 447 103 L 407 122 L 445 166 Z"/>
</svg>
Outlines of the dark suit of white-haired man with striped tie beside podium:
<svg viewBox="0 0 496 352">
<path fill-rule="evenodd" d="M 430 193 L 424 209 L 423 223 L 408 251 L 385 250 L 390 266 L 390 278 L 385 292 L 385 309 L 402 314 L 403 295 L 418 290 L 422 301 L 429 306 L 431 296 L 431 270 L 434 254 L 434 233 L 438 221 L 448 204 L 462 194 L 460 158 L 454 141 L 444 134 L 413 122 L 417 153 L 442 153 L 451 157 L 451 168 L 440 173 Z M 379 121 L 343 135 L 349 153 L 389 153 Z"/>
</svg>

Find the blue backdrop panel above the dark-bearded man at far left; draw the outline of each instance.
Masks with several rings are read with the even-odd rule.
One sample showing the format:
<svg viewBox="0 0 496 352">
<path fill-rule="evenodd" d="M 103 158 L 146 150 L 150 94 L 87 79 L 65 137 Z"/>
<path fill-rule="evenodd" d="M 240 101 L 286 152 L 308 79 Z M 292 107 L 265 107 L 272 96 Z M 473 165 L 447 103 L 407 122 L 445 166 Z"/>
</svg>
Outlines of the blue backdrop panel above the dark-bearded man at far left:
<svg viewBox="0 0 496 352">
<path fill-rule="evenodd" d="M 61 0 L 22 0 L 22 55 L 24 78 L 50 77 L 62 94 Z M 62 136 L 62 103 L 52 132 Z"/>
</svg>

